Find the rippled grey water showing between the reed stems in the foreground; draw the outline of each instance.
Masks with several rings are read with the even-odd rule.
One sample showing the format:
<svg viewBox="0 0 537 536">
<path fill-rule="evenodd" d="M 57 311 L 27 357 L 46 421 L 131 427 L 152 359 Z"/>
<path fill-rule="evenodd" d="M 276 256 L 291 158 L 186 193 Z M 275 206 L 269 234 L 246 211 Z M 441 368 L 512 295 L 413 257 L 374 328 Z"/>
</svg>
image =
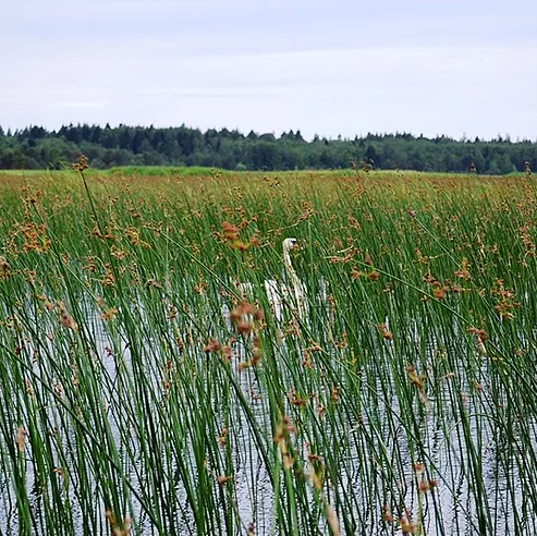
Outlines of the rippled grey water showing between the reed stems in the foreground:
<svg viewBox="0 0 537 536">
<path fill-rule="evenodd" d="M 203 306 L 203 301 L 199 304 Z M 168 305 L 162 304 L 164 310 Z M 228 371 L 216 355 L 205 351 L 207 337 L 199 336 L 205 331 L 196 328 L 193 321 L 198 314 L 178 307 L 178 316 L 166 325 L 167 329 L 155 332 L 152 326 L 162 326 L 151 320 L 151 315 L 155 318 L 158 314 L 157 308 L 152 310 L 147 305 L 134 304 L 130 314 L 142 326 L 136 331 L 138 339 L 135 339 L 121 326 L 113 328 L 110 322 L 102 321 L 90 303 L 84 303 L 83 307 L 87 315 L 86 329 L 90 331 L 88 339 L 93 341 L 84 350 L 87 360 L 83 363 L 81 355 L 84 352 L 77 353 L 80 348 L 76 346 L 82 344 L 81 339 L 59 332 L 52 318 L 39 319 L 41 329 L 34 333 L 39 341 L 25 331 L 20 358 L 35 375 L 34 378 L 26 377 L 32 378 L 33 389 L 38 392 L 37 407 L 32 405 L 32 397 L 19 393 L 17 399 L 11 400 L 3 410 L 2 435 L 13 441 L 17 423 L 27 427 L 32 411 L 36 411 L 37 427 L 33 437 L 49 435 L 52 460 L 46 467 L 46 475 L 39 476 L 40 470 L 36 465 L 39 456 L 32 441 L 21 452 L 13 449 L 12 442 L 11 450 L 5 441 L 0 447 L 1 534 L 23 531 L 16 508 L 17 474 L 22 478 L 19 486 L 28 497 L 30 526 L 35 534 L 50 533 L 51 523 L 56 526 L 65 523 L 65 533 L 105 533 L 102 486 L 110 485 L 106 479 L 122 487 L 119 496 L 125 498 L 122 508 L 132 519 L 134 534 L 157 534 L 147 505 L 156 508 L 160 520 L 166 519 L 163 524 L 168 533 L 197 534 L 195 508 L 203 511 L 198 501 L 204 500 L 209 501 L 208 508 L 212 509 L 212 517 L 206 525 L 207 534 L 225 532 L 223 521 L 221 525 L 213 524 L 215 519 L 223 520 L 225 515 L 234 520 L 237 534 L 246 534 L 251 524 L 257 535 L 283 531 L 274 507 L 272 467 L 279 454 L 274 450 L 273 407 L 267 397 L 271 381 L 278 381 L 282 387 L 281 403 L 285 414 L 293 416 L 293 426 L 304 428 L 300 435 L 291 431 L 289 440 L 305 475 L 315 470 L 308 442 L 322 438 L 326 446 L 330 446 L 321 452 L 326 483 L 324 498 L 339 517 L 343 534 L 402 534 L 400 520 L 405 515 L 416 529 L 420 526 L 423 534 L 428 535 L 489 532 L 530 535 L 537 532 L 534 515 L 537 494 L 533 473 L 528 472 L 535 467 L 535 418 L 524 415 L 513 418 L 509 407 L 498 411 L 495 404 L 501 387 L 493 387 L 497 378 L 492 367 L 487 360 L 476 357 L 475 345 L 461 342 L 463 332 L 456 326 L 452 329 L 454 339 L 447 340 L 442 332 L 428 331 L 419 321 L 408 322 L 405 331 L 402 326 L 390 325 L 388 319 L 385 324 L 394 331 L 394 341 L 400 330 L 400 337 L 405 333 L 404 343 L 379 339 L 375 326 L 361 327 L 354 342 L 334 344 L 331 353 L 325 356 L 322 374 L 327 377 L 312 385 L 317 399 L 308 399 L 304 409 L 300 409 L 295 405 L 296 397 L 308 393 L 295 393 L 293 389 L 296 385 L 307 386 L 307 381 L 295 374 L 303 370 L 307 375 L 307 368 L 294 367 L 291 361 L 303 360 L 312 341 L 308 338 L 305 344 L 303 339 L 289 334 L 285 326 L 281 327 L 280 339 L 272 341 L 270 352 L 265 349 L 264 360 L 270 355 L 274 370 L 278 370 L 279 377 L 273 378 L 267 362 L 258 368 L 242 369 L 241 363 L 253 355 L 253 338 L 233 341 L 231 337 L 236 333 L 225 314 L 220 314 L 221 318 L 212 315 L 207 326 L 219 341 L 231 341 Z M 230 306 L 227 307 L 229 310 Z M 308 325 L 307 330 L 312 329 L 315 328 Z M 56 334 L 42 340 L 47 331 Z M 319 333 L 318 339 L 321 334 L 326 337 L 326 332 Z M 371 344 L 373 340 L 377 342 Z M 368 341 L 367 352 L 362 352 L 361 341 L 364 345 L 364 341 Z M 410 373 L 396 365 L 398 352 L 407 353 L 408 358 L 403 363 L 414 363 L 417 376 L 428 376 L 424 392 L 415 383 L 414 387 L 411 385 L 414 395 L 404 394 Z M 353 387 L 351 376 L 345 375 L 352 368 L 349 363 L 355 353 L 361 355 L 359 365 L 353 369 L 359 381 L 356 380 Z M 419 362 L 418 356 L 424 358 Z M 392 368 L 387 367 L 387 363 L 393 363 Z M 464 365 L 454 368 L 452 365 L 456 363 Z M 12 385 L 2 387 L 5 401 L 9 401 L 5 390 L 14 389 L 17 381 L 14 371 L 10 374 Z M 77 377 L 81 381 L 87 379 L 88 386 L 100 386 L 101 389 L 98 397 L 102 402 L 100 415 L 93 421 L 85 414 L 81 417 L 88 430 L 95 431 L 95 437 L 108 438 L 114 447 L 114 463 L 101 461 L 100 468 L 84 460 L 98 451 L 99 446 L 89 440 L 81 442 L 81 430 L 76 428 L 73 415 L 65 411 L 76 407 L 76 403 L 68 399 L 65 407 L 54 403 L 38 381 L 40 378 L 57 385 L 62 395 L 69 397 L 70 382 Z M 332 377 L 340 377 L 341 395 L 349 390 L 349 398 L 342 400 L 342 411 L 334 419 L 322 414 L 320 407 L 329 406 L 331 397 L 337 395 L 332 390 Z M 198 386 L 197 390 L 190 388 L 187 378 Z M 175 387 L 167 388 L 167 380 Z M 476 381 L 479 381 L 479 388 L 476 388 Z M 146 393 L 144 404 L 137 400 L 139 393 Z M 209 394 L 193 399 L 204 393 Z M 85 398 L 83 393 L 81 397 L 77 403 L 83 405 Z M 512 399 L 507 398 L 505 404 L 509 400 Z M 13 416 L 14 409 L 20 412 L 17 417 Z M 196 412 L 206 418 L 206 429 L 198 429 L 187 422 Z M 172 419 L 171 414 L 178 418 Z M 314 414 L 316 419 L 312 417 Z M 505 422 L 499 421 L 502 415 Z M 149 416 L 156 424 L 152 428 Z M 304 419 L 302 425 L 301 419 Z M 42 427 L 40 423 L 48 423 L 48 426 Z M 212 450 L 227 423 L 230 426 L 227 440 Z M 180 428 L 169 428 L 174 425 Z M 57 437 L 52 434 L 53 427 L 60 430 Z M 141 441 L 142 433 L 146 435 L 144 442 Z M 230 444 L 229 451 L 227 444 Z M 198 459 L 200 452 L 203 460 Z M 268 453 L 268 460 L 263 452 Z M 59 468 L 69 477 L 54 471 Z M 87 475 L 83 475 L 81 468 L 87 471 Z M 103 468 L 115 474 L 99 474 Z M 212 490 L 206 498 L 196 496 L 204 471 Z M 219 476 L 230 473 L 229 486 L 217 483 Z M 424 491 L 419 489 L 422 482 L 434 484 Z M 320 509 L 310 476 L 305 477 L 303 485 L 308 507 L 306 513 L 300 514 L 302 521 L 307 519 L 308 510 Z M 51 499 L 54 486 L 60 488 L 57 497 L 63 501 L 61 509 Z M 280 486 L 279 500 L 284 504 L 289 497 L 283 479 Z M 169 507 L 162 507 L 162 503 L 169 503 Z M 389 521 L 390 515 L 393 522 Z M 318 515 L 316 520 L 317 531 L 328 533 L 325 516 Z M 312 525 L 307 531 L 312 531 Z"/>
</svg>

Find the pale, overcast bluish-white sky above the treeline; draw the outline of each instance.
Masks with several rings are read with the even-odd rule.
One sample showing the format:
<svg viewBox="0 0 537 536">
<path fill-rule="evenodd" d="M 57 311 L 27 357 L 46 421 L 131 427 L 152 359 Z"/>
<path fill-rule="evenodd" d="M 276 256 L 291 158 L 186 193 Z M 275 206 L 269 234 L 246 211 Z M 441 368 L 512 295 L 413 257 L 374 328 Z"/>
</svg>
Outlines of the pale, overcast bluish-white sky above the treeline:
<svg viewBox="0 0 537 536">
<path fill-rule="evenodd" d="M 0 125 L 537 141 L 536 0 L 2 0 Z"/>
</svg>

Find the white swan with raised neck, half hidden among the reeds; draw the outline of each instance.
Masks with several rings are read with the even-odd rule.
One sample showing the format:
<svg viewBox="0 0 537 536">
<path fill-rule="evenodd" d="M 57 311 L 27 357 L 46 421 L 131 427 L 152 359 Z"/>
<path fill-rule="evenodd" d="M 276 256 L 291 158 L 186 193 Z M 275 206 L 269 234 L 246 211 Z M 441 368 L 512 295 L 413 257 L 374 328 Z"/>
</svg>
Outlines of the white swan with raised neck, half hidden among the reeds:
<svg viewBox="0 0 537 536">
<path fill-rule="evenodd" d="M 296 243 L 296 239 L 285 239 L 282 243 L 284 277 L 289 285 L 274 279 L 265 281 L 267 299 L 278 321 L 283 319 L 283 309 L 289 306 L 298 313 L 301 319 L 306 317 L 306 289 L 291 263 L 290 252 L 297 247 Z"/>
</svg>

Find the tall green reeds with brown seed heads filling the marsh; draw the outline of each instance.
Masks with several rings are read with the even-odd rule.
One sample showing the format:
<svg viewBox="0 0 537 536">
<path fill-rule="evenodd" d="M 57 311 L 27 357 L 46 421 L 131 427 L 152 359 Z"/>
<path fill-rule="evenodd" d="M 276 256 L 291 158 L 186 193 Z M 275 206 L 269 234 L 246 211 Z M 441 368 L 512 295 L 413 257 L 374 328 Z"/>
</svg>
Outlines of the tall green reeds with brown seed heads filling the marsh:
<svg viewBox="0 0 537 536">
<path fill-rule="evenodd" d="M 0 534 L 537 531 L 533 179 L 0 172 Z"/>
</svg>

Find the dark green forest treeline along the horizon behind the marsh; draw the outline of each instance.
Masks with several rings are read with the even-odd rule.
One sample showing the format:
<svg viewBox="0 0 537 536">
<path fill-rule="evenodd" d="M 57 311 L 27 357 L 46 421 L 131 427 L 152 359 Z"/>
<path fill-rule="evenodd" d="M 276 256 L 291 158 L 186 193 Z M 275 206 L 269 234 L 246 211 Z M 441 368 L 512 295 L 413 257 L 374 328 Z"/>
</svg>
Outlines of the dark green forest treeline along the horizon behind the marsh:
<svg viewBox="0 0 537 536">
<path fill-rule="evenodd" d="M 412 134 L 367 134 L 354 139 L 303 138 L 300 131 L 247 135 L 234 130 L 187 126 L 111 127 L 77 124 L 15 132 L 0 126 L 0 169 L 59 169 L 81 154 L 93 168 L 206 166 L 232 170 L 342 169 L 351 162 L 377 169 L 505 174 L 537 169 L 537 143 L 456 141 Z"/>
</svg>

